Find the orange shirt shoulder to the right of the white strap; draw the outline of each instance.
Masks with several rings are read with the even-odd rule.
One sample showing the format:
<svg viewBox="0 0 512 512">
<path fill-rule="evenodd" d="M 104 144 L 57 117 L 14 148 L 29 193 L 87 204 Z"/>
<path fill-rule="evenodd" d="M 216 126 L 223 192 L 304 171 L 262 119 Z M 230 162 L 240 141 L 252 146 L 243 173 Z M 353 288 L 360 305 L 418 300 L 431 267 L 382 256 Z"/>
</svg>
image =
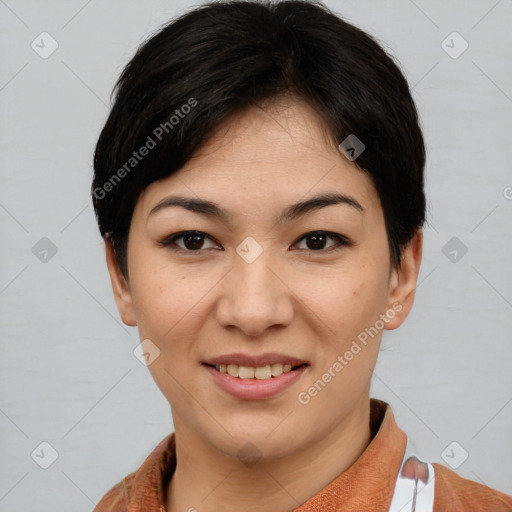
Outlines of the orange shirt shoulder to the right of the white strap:
<svg viewBox="0 0 512 512">
<path fill-rule="evenodd" d="M 434 463 L 434 511 L 511 512 L 512 496 L 467 480 L 455 471 Z"/>
</svg>

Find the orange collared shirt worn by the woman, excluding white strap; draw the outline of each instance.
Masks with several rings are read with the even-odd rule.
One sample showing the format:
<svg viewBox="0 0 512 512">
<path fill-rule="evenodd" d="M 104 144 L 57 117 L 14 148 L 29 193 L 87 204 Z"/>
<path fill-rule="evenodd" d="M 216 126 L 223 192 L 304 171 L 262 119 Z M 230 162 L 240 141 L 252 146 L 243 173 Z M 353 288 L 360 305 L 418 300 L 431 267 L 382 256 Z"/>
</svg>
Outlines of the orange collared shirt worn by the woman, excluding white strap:
<svg viewBox="0 0 512 512">
<path fill-rule="evenodd" d="M 402 467 L 407 436 L 391 407 L 370 400 L 372 440 L 346 471 L 295 512 L 387 512 Z M 434 463 L 433 512 L 512 512 L 512 496 L 461 478 Z M 103 496 L 93 512 L 166 512 L 165 490 L 176 468 L 174 433 L 164 438 L 140 468 Z M 404 508 L 409 512 L 411 508 Z"/>
</svg>

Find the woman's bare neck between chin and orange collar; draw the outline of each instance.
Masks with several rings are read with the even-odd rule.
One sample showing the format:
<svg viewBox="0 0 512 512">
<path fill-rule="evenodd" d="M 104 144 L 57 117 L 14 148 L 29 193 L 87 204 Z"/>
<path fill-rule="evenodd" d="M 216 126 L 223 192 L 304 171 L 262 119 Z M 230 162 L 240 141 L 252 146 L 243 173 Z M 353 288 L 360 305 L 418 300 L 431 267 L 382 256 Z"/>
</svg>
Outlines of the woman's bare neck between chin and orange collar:
<svg viewBox="0 0 512 512">
<path fill-rule="evenodd" d="M 175 431 L 177 465 L 165 495 L 167 512 L 286 512 L 361 456 L 371 441 L 370 403 L 305 449 L 254 464 L 219 452 L 197 431 L 178 425 Z"/>
</svg>

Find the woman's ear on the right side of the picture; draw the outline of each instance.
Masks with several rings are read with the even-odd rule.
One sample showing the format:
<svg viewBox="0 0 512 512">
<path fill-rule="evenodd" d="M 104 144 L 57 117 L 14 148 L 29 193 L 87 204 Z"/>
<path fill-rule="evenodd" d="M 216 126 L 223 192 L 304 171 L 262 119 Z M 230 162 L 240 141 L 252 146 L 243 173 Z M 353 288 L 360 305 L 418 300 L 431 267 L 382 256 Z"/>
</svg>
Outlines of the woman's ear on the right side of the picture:
<svg viewBox="0 0 512 512">
<path fill-rule="evenodd" d="M 418 284 L 421 256 L 423 252 L 423 231 L 418 229 L 402 252 L 399 268 L 393 268 L 389 277 L 388 312 L 393 317 L 385 324 L 385 329 L 400 327 L 412 309 Z M 387 316 L 391 316 L 387 313 Z"/>
</svg>

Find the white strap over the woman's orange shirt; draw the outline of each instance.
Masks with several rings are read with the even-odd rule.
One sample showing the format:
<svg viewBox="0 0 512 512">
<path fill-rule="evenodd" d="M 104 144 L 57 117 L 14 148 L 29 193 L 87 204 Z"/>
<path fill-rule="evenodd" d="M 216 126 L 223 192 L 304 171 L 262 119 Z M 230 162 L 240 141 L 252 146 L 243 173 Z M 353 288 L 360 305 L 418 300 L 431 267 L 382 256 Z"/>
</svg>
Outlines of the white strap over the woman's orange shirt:
<svg viewBox="0 0 512 512">
<path fill-rule="evenodd" d="M 418 460 L 410 448 L 408 441 L 389 512 L 433 512 L 436 479 L 434 466 Z"/>
</svg>

